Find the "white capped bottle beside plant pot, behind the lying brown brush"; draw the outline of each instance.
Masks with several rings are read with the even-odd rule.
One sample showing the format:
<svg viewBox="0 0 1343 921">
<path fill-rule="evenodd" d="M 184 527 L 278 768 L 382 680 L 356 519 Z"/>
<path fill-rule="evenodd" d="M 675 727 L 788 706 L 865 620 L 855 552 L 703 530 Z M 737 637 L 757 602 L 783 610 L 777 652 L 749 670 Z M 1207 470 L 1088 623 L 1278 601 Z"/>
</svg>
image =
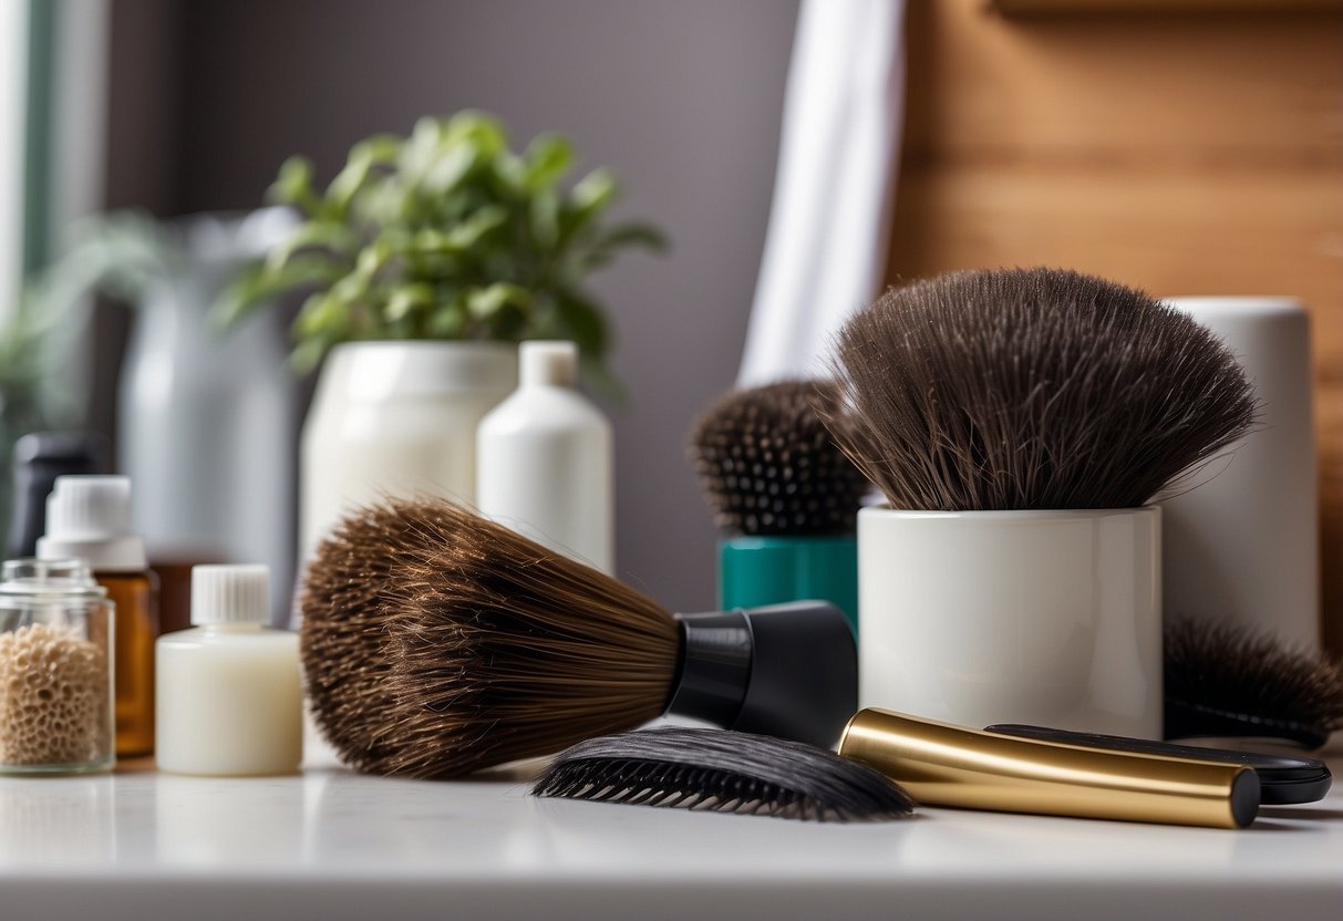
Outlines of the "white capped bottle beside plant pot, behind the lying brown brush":
<svg viewBox="0 0 1343 921">
<path fill-rule="evenodd" d="M 557 553 L 612 573 L 611 423 L 576 388 L 573 342 L 522 342 L 518 388 L 481 420 L 481 514 Z"/>
</svg>

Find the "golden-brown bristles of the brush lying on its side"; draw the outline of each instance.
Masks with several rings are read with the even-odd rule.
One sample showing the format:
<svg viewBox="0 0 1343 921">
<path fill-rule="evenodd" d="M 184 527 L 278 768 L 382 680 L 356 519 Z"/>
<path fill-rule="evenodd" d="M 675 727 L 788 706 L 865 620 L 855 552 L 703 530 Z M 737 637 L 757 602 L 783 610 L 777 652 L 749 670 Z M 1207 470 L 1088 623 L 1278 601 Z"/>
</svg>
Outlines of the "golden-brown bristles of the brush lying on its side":
<svg viewBox="0 0 1343 921">
<path fill-rule="evenodd" d="M 677 667 L 667 611 L 446 501 L 346 518 L 301 604 L 317 721 L 369 773 L 458 776 L 631 729 Z"/>
</svg>

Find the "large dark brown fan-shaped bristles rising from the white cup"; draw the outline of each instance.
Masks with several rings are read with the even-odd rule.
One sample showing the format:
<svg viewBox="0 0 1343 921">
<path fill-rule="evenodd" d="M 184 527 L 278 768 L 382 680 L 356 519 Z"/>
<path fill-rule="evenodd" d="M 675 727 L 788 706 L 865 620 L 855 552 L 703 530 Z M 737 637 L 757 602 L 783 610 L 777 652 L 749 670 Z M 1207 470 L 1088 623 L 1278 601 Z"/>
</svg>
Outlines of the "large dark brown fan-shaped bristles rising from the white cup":
<svg viewBox="0 0 1343 921">
<path fill-rule="evenodd" d="M 1147 294 L 1056 269 L 888 291 L 839 333 L 835 439 L 897 509 L 1146 503 L 1244 436 L 1250 383 Z"/>
</svg>

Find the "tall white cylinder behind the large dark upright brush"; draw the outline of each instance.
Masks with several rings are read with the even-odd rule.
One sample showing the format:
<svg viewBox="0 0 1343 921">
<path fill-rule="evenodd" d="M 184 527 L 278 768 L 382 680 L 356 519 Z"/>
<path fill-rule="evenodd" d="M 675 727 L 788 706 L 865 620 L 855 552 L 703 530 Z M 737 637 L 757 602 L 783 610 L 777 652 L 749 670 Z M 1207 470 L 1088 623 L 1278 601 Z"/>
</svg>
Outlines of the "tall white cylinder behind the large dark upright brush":
<svg viewBox="0 0 1343 921">
<path fill-rule="evenodd" d="M 1262 409 L 1166 509 L 1166 614 L 1320 644 L 1319 467 L 1309 317 L 1292 298 L 1167 301 L 1218 334 Z M 1190 489 L 1193 486 L 1193 489 Z"/>
</svg>

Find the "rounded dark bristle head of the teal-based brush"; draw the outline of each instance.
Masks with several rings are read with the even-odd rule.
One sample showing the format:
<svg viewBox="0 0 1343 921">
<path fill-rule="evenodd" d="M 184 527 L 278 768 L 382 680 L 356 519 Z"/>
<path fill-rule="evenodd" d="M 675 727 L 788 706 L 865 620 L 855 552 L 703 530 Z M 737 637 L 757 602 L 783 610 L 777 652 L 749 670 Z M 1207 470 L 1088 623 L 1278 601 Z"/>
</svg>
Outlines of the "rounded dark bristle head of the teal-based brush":
<svg viewBox="0 0 1343 921">
<path fill-rule="evenodd" d="M 826 428 L 845 424 L 834 381 L 733 391 L 700 414 L 690 459 L 713 521 L 733 536 L 851 534 L 872 486 Z"/>
</svg>

